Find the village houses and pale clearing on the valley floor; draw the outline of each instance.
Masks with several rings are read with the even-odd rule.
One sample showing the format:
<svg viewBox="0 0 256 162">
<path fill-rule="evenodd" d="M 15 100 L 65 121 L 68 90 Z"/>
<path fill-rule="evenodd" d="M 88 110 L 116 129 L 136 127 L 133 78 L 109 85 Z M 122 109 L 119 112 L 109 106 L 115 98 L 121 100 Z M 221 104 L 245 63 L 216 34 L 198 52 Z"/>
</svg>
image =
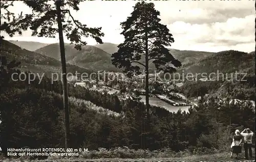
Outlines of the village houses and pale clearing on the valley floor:
<svg viewBox="0 0 256 162">
<path fill-rule="evenodd" d="M 159 74 L 155 74 L 159 75 Z M 157 80 L 154 74 L 150 74 L 149 91 L 150 91 L 150 104 L 154 106 L 161 106 L 170 112 L 177 112 L 179 109 L 188 111 L 189 107 L 197 106 L 197 103 L 202 99 L 207 99 L 209 94 L 198 96 L 194 98 L 187 98 L 184 94 L 179 92 L 179 87 L 183 85 L 182 80 Z M 119 99 L 131 99 L 137 95 L 140 101 L 145 102 L 145 89 L 144 89 L 144 76 L 138 75 L 132 78 L 126 77 L 123 73 L 104 72 L 94 75 L 94 79 L 77 78 L 71 76 L 70 83 L 74 86 L 81 86 L 91 90 L 101 91 L 103 94 L 117 95 Z M 78 82 L 79 81 L 79 82 Z M 210 82 L 212 80 L 207 78 L 191 78 L 191 82 Z M 222 89 L 224 85 L 220 87 Z M 225 99 L 224 99 L 225 101 Z M 229 102 L 231 102 L 230 100 Z M 234 99 L 235 103 L 252 103 L 254 101 Z"/>
</svg>

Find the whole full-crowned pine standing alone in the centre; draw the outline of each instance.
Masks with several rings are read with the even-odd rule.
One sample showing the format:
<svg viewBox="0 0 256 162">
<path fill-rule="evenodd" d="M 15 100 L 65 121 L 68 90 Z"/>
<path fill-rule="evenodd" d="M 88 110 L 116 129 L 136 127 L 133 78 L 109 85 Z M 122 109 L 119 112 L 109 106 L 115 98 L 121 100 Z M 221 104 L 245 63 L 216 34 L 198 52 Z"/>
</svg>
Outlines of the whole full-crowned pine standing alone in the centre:
<svg viewBox="0 0 256 162">
<path fill-rule="evenodd" d="M 152 61 L 157 70 L 168 73 L 176 71 L 181 62 L 175 59 L 164 46 L 174 42 L 173 35 L 165 25 L 160 24 L 160 12 L 155 10 L 154 3 L 137 3 L 134 11 L 126 21 L 121 23 L 124 42 L 118 45 L 118 52 L 112 54 L 116 67 L 124 68 L 129 77 L 141 74 L 140 67 L 145 68 L 146 110 L 149 112 L 148 63 Z M 144 55 L 145 64 L 141 61 Z M 140 65 L 134 65 L 138 63 Z"/>
</svg>

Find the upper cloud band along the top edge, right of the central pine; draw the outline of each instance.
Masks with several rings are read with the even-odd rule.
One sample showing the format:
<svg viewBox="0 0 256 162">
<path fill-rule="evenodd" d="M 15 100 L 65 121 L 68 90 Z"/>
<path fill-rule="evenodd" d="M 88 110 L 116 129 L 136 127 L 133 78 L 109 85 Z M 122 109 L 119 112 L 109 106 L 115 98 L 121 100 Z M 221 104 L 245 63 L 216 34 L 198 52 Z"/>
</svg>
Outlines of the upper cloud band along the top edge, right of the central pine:
<svg viewBox="0 0 256 162">
<path fill-rule="evenodd" d="M 168 5 L 169 4 L 169 5 Z M 183 4 L 183 5 L 182 5 Z M 184 21 L 190 24 L 226 22 L 230 17 L 243 18 L 255 13 L 253 1 L 168 1 L 156 3 L 164 24 Z"/>
</svg>

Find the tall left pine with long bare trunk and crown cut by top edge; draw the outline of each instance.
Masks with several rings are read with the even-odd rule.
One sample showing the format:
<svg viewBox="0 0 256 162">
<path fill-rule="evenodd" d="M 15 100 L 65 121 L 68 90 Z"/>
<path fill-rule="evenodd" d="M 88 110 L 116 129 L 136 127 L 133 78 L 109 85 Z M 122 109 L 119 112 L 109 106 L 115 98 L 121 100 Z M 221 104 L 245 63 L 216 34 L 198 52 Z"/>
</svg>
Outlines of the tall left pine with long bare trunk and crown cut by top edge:
<svg viewBox="0 0 256 162">
<path fill-rule="evenodd" d="M 68 148 L 69 139 L 69 107 L 68 107 L 68 87 L 67 87 L 67 70 L 65 47 L 63 41 L 63 32 L 66 37 L 75 44 L 75 49 L 81 50 L 82 45 L 87 42 L 82 41 L 81 37 L 93 37 L 98 43 L 103 43 L 100 39 L 104 36 L 100 32 L 101 28 L 88 28 L 82 25 L 81 22 L 74 19 L 69 9 L 79 10 L 78 5 L 83 1 L 53 1 L 53 5 L 49 1 L 24 1 L 24 3 L 32 9 L 33 14 L 26 14 L 21 17 L 21 20 L 15 22 L 15 26 L 22 27 L 27 30 L 30 27 L 32 36 L 55 38 L 59 34 L 60 55 L 62 64 L 62 79 L 63 79 L 63 106 L 65 109 L 65 144 Z M 68 16 L 72 20 L 68 19 Z M 57 27 L 55 27 L 57 25 Z M 11 26 L 14 28 L 14 25 Z M 38 30 L 40 31 L 38 32 Z M 15 30 L 14 30 L 15 31 Z M 19 32 L 21 34 L 21 32 Z M 12 36 L 12 34 L 9 34 Z"/>
</svg>

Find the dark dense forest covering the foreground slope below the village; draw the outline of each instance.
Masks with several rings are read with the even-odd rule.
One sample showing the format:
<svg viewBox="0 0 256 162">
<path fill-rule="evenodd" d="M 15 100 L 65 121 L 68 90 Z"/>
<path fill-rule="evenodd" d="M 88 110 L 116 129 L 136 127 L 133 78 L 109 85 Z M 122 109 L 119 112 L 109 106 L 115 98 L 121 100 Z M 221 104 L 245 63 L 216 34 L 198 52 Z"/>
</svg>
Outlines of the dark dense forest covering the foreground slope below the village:
<svg viewBox="0 0 256 162">
<path fill-rule="evenodd" d="M 47 77 L 40 84 L 38 79 L 31 84 L 28 80 L 12 81 L 11 74 L 21 72 L 9 64 L 1 68 L 3 151 L 7 146 L 64 147 L 61 82 L 51 84 Z M 145 105 L 137 101 L 121 101 L 115 95 L 71 85 L 69 96 L 73 148 L 227 150 L 236 127 L 253 131 L 255 127 L 252 105 L 224 103 L 217 97 L 202 100 L 189 112 L 172 113 L 151 106 L 150 118 L 145 121 L 141 118 Z M 101 107 L 101 111 L 92 107 Z M 149 131 L 143 132 L 144 127 Z"/>
</svg>

